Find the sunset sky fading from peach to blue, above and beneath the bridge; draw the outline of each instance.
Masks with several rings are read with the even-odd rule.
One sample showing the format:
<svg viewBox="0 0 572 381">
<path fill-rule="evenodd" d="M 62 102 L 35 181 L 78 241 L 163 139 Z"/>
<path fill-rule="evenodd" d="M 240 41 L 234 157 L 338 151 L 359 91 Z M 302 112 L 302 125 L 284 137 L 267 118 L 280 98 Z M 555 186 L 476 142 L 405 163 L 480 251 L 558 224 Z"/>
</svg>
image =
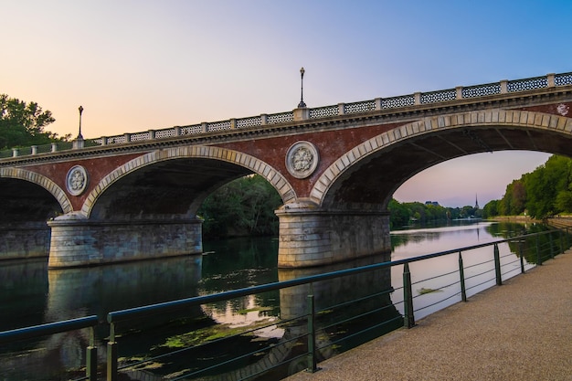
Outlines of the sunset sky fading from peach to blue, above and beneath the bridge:
<svg viewBox="0 0 572 381">
<path fill-rule="evenodd" d="M 0 93 L 84 137 L 572 71 L 572 2 L 10 1 Z M 410 179 L 399 201 L 483 206 L 547 153 L 486 153 Z M 471 171 L 468 171 L 468 168 Z"/>
</svg>

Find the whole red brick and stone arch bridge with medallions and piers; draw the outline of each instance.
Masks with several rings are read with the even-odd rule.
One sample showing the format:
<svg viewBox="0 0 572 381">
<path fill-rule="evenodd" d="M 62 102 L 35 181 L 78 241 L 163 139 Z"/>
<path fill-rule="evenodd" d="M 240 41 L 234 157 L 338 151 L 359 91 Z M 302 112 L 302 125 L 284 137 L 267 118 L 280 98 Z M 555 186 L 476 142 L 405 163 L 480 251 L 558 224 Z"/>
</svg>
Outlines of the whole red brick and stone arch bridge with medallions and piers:
<svg viewBox="0 0 572 381">
<path fill-rule="evenodd" d="M 50 267 L 200 253 L 196 210 L 259 174 L 280 194 L 279 266 L 386 252 L 399 185 L 471 153 L 572 156 L 572 73 L 0 153 L 0 258 Z"/>
</svg>

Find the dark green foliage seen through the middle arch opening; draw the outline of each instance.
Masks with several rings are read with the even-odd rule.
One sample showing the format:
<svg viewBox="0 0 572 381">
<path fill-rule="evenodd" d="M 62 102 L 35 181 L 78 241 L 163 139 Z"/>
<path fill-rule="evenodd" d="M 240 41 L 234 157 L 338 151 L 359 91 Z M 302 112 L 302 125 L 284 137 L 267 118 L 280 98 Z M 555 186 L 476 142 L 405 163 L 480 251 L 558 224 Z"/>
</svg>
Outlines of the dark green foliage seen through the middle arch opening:
<svg viewBox="0 0 572 381">
<path fill-rule="evenodd" d="M 278 233 L 274 214 L 282 200 L 260 175 L 249 175 L 223 185 L 197 211 L 205 237 L 264 236 Z"/>
</svg>

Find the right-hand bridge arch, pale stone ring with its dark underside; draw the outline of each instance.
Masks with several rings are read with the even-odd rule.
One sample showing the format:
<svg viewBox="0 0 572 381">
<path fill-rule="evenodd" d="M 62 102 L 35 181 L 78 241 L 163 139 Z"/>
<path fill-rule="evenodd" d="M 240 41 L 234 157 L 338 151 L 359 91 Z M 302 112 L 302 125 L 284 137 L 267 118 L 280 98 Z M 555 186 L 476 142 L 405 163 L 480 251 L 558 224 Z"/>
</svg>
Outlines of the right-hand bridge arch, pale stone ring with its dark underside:
<svg viewBox="0 0 572 381">
<path fill-rule="evenodd" d="M 566 137 L 567 139 L 561 139 Z M 450 159 L 494 151 L 538 151 L 572 156 L 572 119 L 537 111 L 451 113 L 409 122 L 358 144 L 331 164 L 313 186 L 319 206 L 385 209 L 408 178 Z M 363 181 L 364 174 L 368 181 Z"/>
</svg>

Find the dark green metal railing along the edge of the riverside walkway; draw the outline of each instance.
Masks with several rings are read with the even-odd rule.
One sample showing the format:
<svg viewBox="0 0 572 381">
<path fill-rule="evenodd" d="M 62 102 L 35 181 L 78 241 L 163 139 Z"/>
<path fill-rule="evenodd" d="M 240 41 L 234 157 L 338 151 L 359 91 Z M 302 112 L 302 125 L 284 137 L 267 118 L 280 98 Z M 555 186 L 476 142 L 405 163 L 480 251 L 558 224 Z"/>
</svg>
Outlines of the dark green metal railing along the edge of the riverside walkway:
<svg viewBox="0 0 572 381">
<path fill-rule="evenodd" d="M 184 369 L 172 373 L 168 379 L 209 379 L 224 373 L 228 379 L 252 379 L 266 372 L 284 374 L 285 368 L 314 372 L 320 360 L 332 355 L 335 348 L 347 349 L 362 344 L 381 334 L 398 327 L 410 328 L 415 325 L 416 317 L 438 311 L 454 302 L 466 302 L 467 298 L 486 288 L 503 284 L 519 272 L 542 265 L 570 247 L 570 235 L 567 229 L 555 229 L 527 234 L 513 238 L 496 240 L 461 249 L 451 249 L 409 259 L 386 261 L 367 266 L 337 270 L 298 279 L 284 280 L 234 291 L 197 296 L 174 302 L 163 302 L 143 307 L 109 312 L 109 336 L 107 337 L 106 372 L 107 380 L 119 380 L 121 373 L 137 372 L 146 364 L 174 363 L 173 358 L 184 358 Z M 473 252 L 479 251 L 479 255 Z M 485 259 L 483 257 L 483 251 Z M 477 260 L 477 257 L 480 259 Z M 452 259 L 451 259 L 452 258 Z M 439 273 L 417 279 L 416 267 L 427 267 L 429 260 L 443 260 L 438 266 Z M 467 263 L 466 263 L 467 262 Z M 396 274 L 392 270 L 402 267 L 402 283 L 395 284 Z M 373 279 L 382 279 L 379 283 L 365 281 L 366 287 L 355 287 L 355 280 L 363 280 L 371 273 Z M 387 275 L 389 281 L 387 283 Z M 347 278 L 355 277 L 355 278 Z M 383 280 L 386 277 L 386 280 Z M 393 278 L 393 281 L 392 281 Z M 335 300 L 333 286 L 327 281 L 339 280 L 335 287 L 347 285 L 352 289 L 366 289 L 363 294 L 349 299 Z M 398 283 L 398 281 L 397 281 Z M 392 286 L 393 284 L 393 286 Z M 425 288 L 428 286 L 428 288 Z M 420 287 L 420 289 L 418 289 Z M 417 292 L 414 292 L 414 288 Z M 205 304 L 231 301 L 248 295 L 280 291 L 281 300 L 293 301 L 295 312 L 281 311 L 280 322 L 264 323 L 244 328 L 238 333 L 225 337 L 215 337 L 202 344 L 188 344 L 175 350 L 163 351 L 158 355 L 137 360 L 126 360 L 120 356 L 122 342 L 129 341 L 132 332 L 141 332 L 138 323 L 149 322 L 157 317 L 168 322 L 185 316 L 192 307 Z M 344 295 L 344 292 L 337 292 Z M 178 314 L 181 314 L 179 316 Z M 152 319 L 152 317 L 154 317 Z M 23 340 L 39 335 L 59 333 L 90 327 L 93 331 L 97 318 L 90 316 L 67 322 L 22 328 L 0 333 L 0 344 Z M 233 349 L 232 356 L 226 354 L 217 357 L 217 361 L 206 361 L 202 366 L 190 366 L 188 363 L 197 357 L 205 357 L 214 345 L 230 346 L 233 341 L 256 335 L 270 326 L 280 326 L 285 330 L 281 341 L 271 342 L 256 348 L 244 346 L 244 350 Z M 119 333 L 121 326 L 122 333 Z M 92 333 L 91 333 L 92 334 Z M 147 336 L 154 337 L 147 333 Z M 91 335 L 91 340 L 93 336 Z M 154 347 L 160 345 L 154 344 Z M 84 379 L 95 380 L 97 369 L 97 349 L 93 341 L 87 349 L 88 364 Z M 123 358 L 122 358 L 123 357 Z M 264 361 L 262 361 L 262 359 Z M 212 359 L 211 359 L 212 360 Z M 260 365 L 260 363 L 264 363 Z M 294 365 L 292 365 L 292 363 Z M 281 373 L 282 372 L 282 373 Z M 233 376 L 229 376 L 233 374 Z M 174 376 L 175 375 L 175 376 Z M 161 379 L 156 376 L 155 379 Z"/>
</svg>

